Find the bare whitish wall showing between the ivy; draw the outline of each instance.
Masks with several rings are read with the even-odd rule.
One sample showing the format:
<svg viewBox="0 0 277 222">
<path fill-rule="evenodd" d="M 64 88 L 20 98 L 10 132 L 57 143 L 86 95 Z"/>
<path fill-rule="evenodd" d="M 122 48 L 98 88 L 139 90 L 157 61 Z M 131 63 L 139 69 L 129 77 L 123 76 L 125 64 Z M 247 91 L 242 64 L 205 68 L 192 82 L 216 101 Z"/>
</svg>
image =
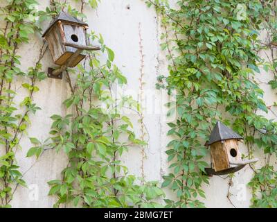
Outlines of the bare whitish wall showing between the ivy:
<svg viewBox="0 0 277 222">
<path fill-rule="evenodd" d="M 80 5 L 71 1 L 71 6 L 80 9 Z M 39 9 L 48 6 L 49 1 L 39 0 Z M 101 33 L 105 43 L 114 50 L 116 54 L 115 63 L 127 76 L 128 85 L 125 87 L 125 94 L 132 94 L 134 99 L 139 100 L 139 94 L 143 94 L 144 123 L 148 130 L 145 139 L 149 140 L 149 146 L 145 148 L 144 173 L 146 180 L 160 180 L 168 172 L 166 145 L 170 138 L 166 136 L 168 126 L 166 125 L 166 110 L 163 104 L 166 103 L 166 94 L 155 89 L 157 76 L 167 74 L 166 55 L 160 49 L 160 35 L 163 30 L 160 28 L 159 17 L 153 8 L 147 8 L 142 0 L 101 0 L 97 10 L 85 8 L 89 30 Z M 44 29 L 48 24 L 42 24 Z M 26 70 L 35 64 L 42 46 L 42 37 L 30 35 L 29 44 L 23 44 L 19 48 L 21 56 L 21 69 Z M 141 42 L 141 44 L 140 44 Z M 142 46 L 142 47 L 141 47 Z M 142 49 L 142 51 L 141 51 Z M 144 62 L 141 62 L 143 55 Z M 261 55 L 265 57 L 265 55 Z M 42 60 L 44 71 L 52 67 L 53 62 L 49 51 Z M 143 65 L 143 91 L 139 89 L 139 78 L 141 78 L 141 67 Z M 268 81 L 271 76 L 262 72 L 257 76 L 261 82 Z M 22 101 L 26 91 L 21 87 L 22 79 L 17 80 L 14 89 L 17 91 L 16 102 Z M 55 151 L 46 151 L 39 160 L 26 158 L 28 149 L 32 146 L 28 137 L 37 137 L 44 140 L 48 137 L 51 127 L 52 114 L 66 114 L 62 101 L 69 96 L 69 87 L 66 81 L 47 78 L 38 84 L 39 92 L 35 93 L 34 100 L 42 108 L 31 117 L 32 126 L 28 128 L 28 135 L 21 139 L 22 150 L 17 152 L 17 159 L 24 172 L 29 188 L 19 187 L 12 200 L 13 207 L 52 207 L 55 198 L 47 196 L 49 187 L 47 181 L 60 178 L 60 172 L 66 166 L 65 155 Z M 267 85 L 261 85 L 265 90 L 267 105 L 276 101 L 276 94 Z M 135 125 L 138 135 L 141 134 L 138 117 L 129 114 Z M 269 118 L 274 118 L 269 113 Z M 149 135 L 149 137 L 148 137 Z M 243 144 L 240 144 L 242 153 L 245 152 Z M 260 162 L 264 164 L 262 153 L 256 153 Z M 209 160 L 209 158 L 207 159 Z M 141 176 L 142 154 L 140 148 L 132 148 L 129 153 L 123 156 L 123 162 L 129 168 L 130 173 Z M 249 167 L 235 173 L 233 185 L 230 187 L 232 196 L 230 199 L 236 207 L 249 207 L 251 191 L 247 188 L 247 182 L 251 179 L 252 173 Z M 229 179 L 214 176 L 210 179 L 210 185 L 204 186 L 206 191 L 206 207 L 233 207 L 226 197 L 229 189 Z M 166 190 L 168 197 L 172 196 Z"/>
</svg>

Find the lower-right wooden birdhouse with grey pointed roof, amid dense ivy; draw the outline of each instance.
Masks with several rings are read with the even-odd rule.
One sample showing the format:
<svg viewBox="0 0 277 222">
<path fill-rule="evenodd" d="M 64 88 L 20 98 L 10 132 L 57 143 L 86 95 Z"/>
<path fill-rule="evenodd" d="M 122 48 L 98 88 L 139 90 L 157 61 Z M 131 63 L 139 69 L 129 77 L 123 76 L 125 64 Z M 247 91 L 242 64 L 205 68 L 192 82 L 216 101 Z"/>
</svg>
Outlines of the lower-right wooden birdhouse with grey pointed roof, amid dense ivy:
<svg viewBox="0 0 277 222">
<path fill-rule="evenodd" d="M 242 160 L 238 143 L 240 135 L 217 121 L 206 146 L 211 147 L 212 168 L 206 168 L 210 175 L 234 173 L 245 165 L 256 162 L 258 159 Z"/>
</svg>

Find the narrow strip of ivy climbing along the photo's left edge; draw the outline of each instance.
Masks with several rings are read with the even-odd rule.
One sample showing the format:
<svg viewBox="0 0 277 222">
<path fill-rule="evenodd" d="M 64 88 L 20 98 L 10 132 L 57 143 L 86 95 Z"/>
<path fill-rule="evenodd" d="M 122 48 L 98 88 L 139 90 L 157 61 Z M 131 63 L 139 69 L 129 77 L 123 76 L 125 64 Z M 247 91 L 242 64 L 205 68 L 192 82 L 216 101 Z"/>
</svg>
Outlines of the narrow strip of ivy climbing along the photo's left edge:
<svg viewBox="0 0 277 222">
<path fill-rule="evenodd" d="M 21 149 L 23 133 L 30 126 L 30 114 L 39 107 L 33 103 L 33 94 L 39 90 L 35 83 L 45 78 L 39 63 L 28 71 L 20 69 L 20 56 L 17 55 L 21 44 L 29 41 L 28 35 L 39 31 L 35 24 L 37 1 L 10 0 L 0 8 L 0 207 L 10 207 L 10 201 L 17 187 L 26 186 L 19 171 L 16 153 Z M 17 92 L 13 89 L 15 80 L 24 77 L 26 96 L 20 104 L 15 103 Z"/>
</svg>

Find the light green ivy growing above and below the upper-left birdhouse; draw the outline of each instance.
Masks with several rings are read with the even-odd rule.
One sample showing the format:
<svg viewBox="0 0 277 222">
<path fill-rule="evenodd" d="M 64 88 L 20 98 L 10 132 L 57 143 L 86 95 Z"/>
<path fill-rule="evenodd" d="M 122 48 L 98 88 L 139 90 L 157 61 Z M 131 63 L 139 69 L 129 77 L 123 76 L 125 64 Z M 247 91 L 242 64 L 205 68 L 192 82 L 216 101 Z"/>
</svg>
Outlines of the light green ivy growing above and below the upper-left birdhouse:
<svg viewBox="0 0 277 222">
<path fill-rule="evenodd" d="M 81 1 L 79 12 L 67 3 L 61 6 L 53 1 L 41 14 L 47 18 L 66 7 L 71 15 L 84 18 L 82 9 L 87 3 Z M 62 179 L 48 182 L 48 195 L 57 197 L 54 207 L 161 207 L 154 201 L 164 196 L 158 182 L 130 175 L 120 161 L 129 148 L 145 146 L 136 138 L 132 121 L 122 114 L 124 108 L 138 111 L 139 104 L 131 97 L 114 95 L 113 89 L 127 80 L 114 64 L 114 51 L 105 45 L 102 35 L 87 35 L 87 42 L 96 41 L 102 50 L 87 52 L 84 63 L 64 76 L 71 89 L 71 96 L 64 101 L 70 114 L 54 114 L 51 138 L 45 142 L 30 138 L 35 146 L 27 156 L 39 157 L 49 149 L 67 155 Z"/>
</svg>

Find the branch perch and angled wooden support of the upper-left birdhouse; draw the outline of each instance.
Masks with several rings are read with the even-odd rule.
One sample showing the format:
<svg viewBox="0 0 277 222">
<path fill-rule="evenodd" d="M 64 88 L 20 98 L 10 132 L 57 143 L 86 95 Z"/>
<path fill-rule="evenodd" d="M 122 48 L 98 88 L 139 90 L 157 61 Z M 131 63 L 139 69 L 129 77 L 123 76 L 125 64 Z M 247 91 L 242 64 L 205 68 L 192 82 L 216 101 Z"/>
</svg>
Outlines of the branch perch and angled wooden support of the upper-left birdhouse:
<svg viewBox="0 0 277 222">
<path fill-rule="evenodd" d="M 64 42 L 64 46 L 70 46 L 75 49 L 75 53 L 73 53 L 68 60 L 64 63 L 64 65 L 60 66 L 60 68 L 53 70 L 52 68 L 48 68 L 48 77 L 49 78 L 58 78 L 62 79 L 62 72 L 69 67 L 71 62 L 73 62 L 79 55 L 82 53 L 83 50 L 87 51 L 96 51 L 100 50 L 100 46 L 81 46 L 79 44 L 72 44 L 69 42 Z"/>
</svg>

